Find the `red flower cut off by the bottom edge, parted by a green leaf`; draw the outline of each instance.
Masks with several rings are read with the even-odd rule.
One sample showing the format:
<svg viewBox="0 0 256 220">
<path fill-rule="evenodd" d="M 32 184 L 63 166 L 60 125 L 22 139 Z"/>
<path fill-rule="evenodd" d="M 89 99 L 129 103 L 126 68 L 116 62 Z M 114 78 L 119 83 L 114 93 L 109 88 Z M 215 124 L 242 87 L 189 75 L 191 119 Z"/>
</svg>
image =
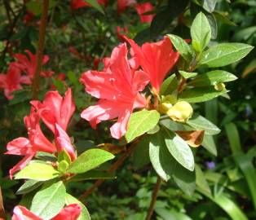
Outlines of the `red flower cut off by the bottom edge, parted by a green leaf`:
<svg viewBox="0 0 256 220">
<path fill-rule="evenodd" d="M 60 211 L 54 218 L 51 220 L 77 220 L 80 213 L 82 212 L 82 208 L 78 204 L 67 205 L 64 209 Z M 22 205 L 17 205 L 13 209 L 13 215 L 11 220 L 43 220 L 38 217 L 38 215 L 29 211 Z"/>
</svg>

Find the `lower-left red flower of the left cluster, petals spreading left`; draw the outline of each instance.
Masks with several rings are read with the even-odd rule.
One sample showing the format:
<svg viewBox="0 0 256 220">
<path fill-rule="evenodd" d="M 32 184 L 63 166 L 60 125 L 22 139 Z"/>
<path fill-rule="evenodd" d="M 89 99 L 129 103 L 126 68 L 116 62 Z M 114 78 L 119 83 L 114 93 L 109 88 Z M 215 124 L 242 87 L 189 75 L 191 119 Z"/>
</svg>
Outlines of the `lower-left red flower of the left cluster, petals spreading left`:
<svg viewBox="0 0 256 220">
<path fill-rule="evenodd" d="M 56 147 L 42 133 L 39 120 L 38 112 L 31 108 L 30 115 L 24 117 L 24 124 L 28 130 L 29 139 L 21 137 L 7 143 L 8 151 L 5 154 L 24 156 L 22 161 L 10 169 L 10 178 L 12 178 L 16 171 L 23 169 L 37 152 L 55 152 Z"/>
</svg>

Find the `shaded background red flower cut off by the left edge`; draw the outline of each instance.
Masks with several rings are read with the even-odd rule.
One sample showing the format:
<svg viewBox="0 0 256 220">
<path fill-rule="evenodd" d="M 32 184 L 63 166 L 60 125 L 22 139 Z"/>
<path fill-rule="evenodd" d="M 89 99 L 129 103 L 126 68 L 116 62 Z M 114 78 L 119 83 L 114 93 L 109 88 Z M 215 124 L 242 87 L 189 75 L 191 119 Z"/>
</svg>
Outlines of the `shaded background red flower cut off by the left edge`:
<svg viewBox="0 0 256 220">
<path fill-rule="evenodd" d="M 20 83 L 30 84 L 30 79 L 27 76 L 20 75 L 20 69 L 15 67 L 15 64 L 9 65 L 7 74 L 0 73 L 0 89 L 4 90 L 4 95 L 7 99 L 13 99 L 11 93 L 15 90 L 21 90 Z"/>
</svg>

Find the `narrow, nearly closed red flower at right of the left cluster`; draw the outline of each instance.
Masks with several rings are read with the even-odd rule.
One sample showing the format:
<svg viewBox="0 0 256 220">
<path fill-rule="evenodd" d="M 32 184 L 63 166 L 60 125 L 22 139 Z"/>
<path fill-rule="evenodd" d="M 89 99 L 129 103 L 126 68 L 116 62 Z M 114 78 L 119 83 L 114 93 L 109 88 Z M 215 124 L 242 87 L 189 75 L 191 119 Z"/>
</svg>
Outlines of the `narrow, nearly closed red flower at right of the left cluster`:
<svg viewBox="0 0 256 220">
<path fill-rule="evenodd" d="M 75 149 L 71 143 L 68 134 L 60 127 L 60 125 L 55 124 L 55 144 L 57 152 L 62 152 L 65 150 L 71 158 L 71 161 L 76 160 L 77 155 L 75 154 Z"/>
</svg>

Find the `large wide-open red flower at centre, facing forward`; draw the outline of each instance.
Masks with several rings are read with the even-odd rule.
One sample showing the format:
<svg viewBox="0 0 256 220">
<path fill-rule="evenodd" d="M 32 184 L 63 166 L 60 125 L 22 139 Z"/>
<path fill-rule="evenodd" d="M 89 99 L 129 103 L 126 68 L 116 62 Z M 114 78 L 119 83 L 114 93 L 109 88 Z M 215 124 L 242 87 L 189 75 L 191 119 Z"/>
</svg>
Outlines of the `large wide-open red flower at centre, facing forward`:
<svg viewBox="0 0 256 220">
<path fill-rule="evenodd" d="M 143 71 L 130 67 L 127 53 L 126 43 L 117 46 L 111 57 L 104 59 L 103 72 L 87 71 L 80 79 L 86 92 L 99 99 L 94 106 L 86 108 L 81 117 L 90 121 L 94 128 L 100 121 L 118 117 L 110 129 L 115 139 L 126 133 L 133 109 L 146 105 L 146 99 L 139 91 L 148 84 L 148 77 Z"/>
</svg>

